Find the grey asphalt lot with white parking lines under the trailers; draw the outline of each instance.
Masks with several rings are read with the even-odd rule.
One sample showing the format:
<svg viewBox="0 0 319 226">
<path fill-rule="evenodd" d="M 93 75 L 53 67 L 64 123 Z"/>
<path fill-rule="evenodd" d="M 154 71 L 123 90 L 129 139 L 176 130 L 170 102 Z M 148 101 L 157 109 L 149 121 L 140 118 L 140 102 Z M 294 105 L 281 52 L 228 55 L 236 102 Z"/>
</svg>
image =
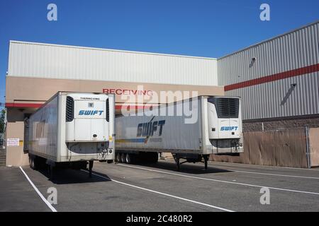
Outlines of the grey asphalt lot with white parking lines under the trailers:
<svg viewBox="0 0 319 226">
<path fill-rule="evenodd" d="M 46 201 L 57 191 L 57 204 Z M 52 198 L 52 197 L 51 197 Z M 50 199 L 50 198 L 49 198 Z M 51 199 L 52 200 L 52 199 Z M 29 167 L 0 167 L 0 211 L 319 211 L 319 170 L 209 162 L 94 163 L 55 179 Z"/>
</svg>

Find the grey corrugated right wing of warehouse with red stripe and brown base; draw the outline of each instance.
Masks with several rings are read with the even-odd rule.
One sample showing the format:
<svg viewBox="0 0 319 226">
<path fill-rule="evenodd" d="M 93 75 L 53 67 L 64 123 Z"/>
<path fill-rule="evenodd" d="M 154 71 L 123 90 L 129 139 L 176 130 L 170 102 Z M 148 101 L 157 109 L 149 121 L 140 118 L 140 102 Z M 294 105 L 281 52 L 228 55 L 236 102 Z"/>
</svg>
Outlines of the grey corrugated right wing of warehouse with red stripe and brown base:
<svg viewBox="0 0 319 226">
<path fill-rule="evenodd" d="M 319 22 L 218 59 L 218 85 L 242 97 L 245 153 L 213 160 L 319 166 Z"/>
</svg>

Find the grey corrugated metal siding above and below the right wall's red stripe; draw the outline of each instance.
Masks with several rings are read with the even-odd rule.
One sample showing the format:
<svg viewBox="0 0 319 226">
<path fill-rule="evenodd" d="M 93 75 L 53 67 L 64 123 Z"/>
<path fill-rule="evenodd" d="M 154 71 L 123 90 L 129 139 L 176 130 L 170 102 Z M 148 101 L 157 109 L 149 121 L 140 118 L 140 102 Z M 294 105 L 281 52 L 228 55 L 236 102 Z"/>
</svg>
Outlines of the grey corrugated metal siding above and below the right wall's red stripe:
<svg viewBox="0 0 319 226">
<path fill-rule="evenodd" d="M 218 84 L 232 85 L 318 64 L 318 32 L 319 22 L 218 59 Z M 244 119 L 319 114 L 318 76 L 317 71 L 230 90 L 226 95 L 242 97 Z"/>
</svg>

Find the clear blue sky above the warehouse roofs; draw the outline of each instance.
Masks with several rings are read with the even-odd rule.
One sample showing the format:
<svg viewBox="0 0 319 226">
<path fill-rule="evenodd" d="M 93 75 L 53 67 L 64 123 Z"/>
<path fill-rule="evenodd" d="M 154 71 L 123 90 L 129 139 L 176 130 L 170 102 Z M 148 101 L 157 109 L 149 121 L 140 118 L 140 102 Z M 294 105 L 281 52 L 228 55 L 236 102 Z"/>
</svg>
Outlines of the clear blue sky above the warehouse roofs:
<svg viewBox="0 0 319 226">
<path fill-rule="evenodd" d="M 57 4 L 58 20 L 47 20 Z M 271 20 L 259 19 L 259 6 Z M 1 0 L 0 102 L 9 40 L 223 57 L 319 19 L 318 0 Z"/>
</svg>

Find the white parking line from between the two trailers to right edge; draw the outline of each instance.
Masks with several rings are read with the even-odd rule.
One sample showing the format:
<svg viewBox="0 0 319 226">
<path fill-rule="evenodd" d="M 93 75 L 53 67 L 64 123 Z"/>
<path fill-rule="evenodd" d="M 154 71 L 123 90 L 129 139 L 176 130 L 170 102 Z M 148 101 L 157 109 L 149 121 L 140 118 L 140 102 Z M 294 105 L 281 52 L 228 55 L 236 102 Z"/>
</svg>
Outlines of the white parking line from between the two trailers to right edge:
<svg viewBox="0 0 319 226">
<path fill-rule="evenodd" d="M 135 169 L 147 170 L 147 171 L 150 171 L 150 172 L 159 172 L 159 173 L 162 173 L 162 174 L 170 174 L 170 175 L 174 175 L 174 176 L 178 176 L 178 177 L 188 177 L 188 178 L 193 178 L 193 179 L 202 179 L 202 180 L 206 180 L 206 181 L 220 182 L 220 183 L 226 183 L 226 184 L 237 184 L 237 185 L 242 185 L 242 186 L 252 186 L 252 187 L 257 187 L 257 188 L 267 187 L 269 189 L 279 190 L 279 191 L 289 191 L 289 192 L 296 192 L 296 193 L 303 193 L 303 194 L 319 195 L 319 193 L 317 193 L 317 192 L 298 191 L 298 190 L 291 190 L 291 189 L 280 189 L 280 188 L 275 188 L 275 187 L 271 187 L 271 186 L 261 186 L 261 185 L 254 185 L 254 184 L 243 184 L 243 183 L 238 183 L 238 182 L 228 182 L 228 181 L 222 181 L 222 180 L 219 180 L 219 179 L 210 179 L 210 178 L 204 178 L 204 177 L 188 176 L 188 175 L 184 175 L 184 174 L 175 174 L 175 173 L 172 173 L 172 172 L 164 172 L 164 171 L 160 171 L 160 170 L 156 170 L 156 169 L 147 169 L 147 168 L 142 168 L 142 167 L 133 167 L 131 165 L 123 165 L 123 164 L 118 164 L 118 165 L 121 165 L 123 167 L 130 167 L 130 168 L 135 168 Z"/>
</svg>

